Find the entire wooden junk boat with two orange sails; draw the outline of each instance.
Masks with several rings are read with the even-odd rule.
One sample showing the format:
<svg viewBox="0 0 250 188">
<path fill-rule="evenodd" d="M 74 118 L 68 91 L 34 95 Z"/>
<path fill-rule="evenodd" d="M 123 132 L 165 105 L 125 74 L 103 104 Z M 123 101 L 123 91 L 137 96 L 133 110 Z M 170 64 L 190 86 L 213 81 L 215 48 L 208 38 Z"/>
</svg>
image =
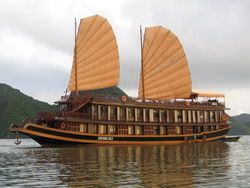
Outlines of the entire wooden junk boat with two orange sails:
<svg viewBox="0 0 250 188">
<path fill-rule="evenodd" d="M 56 102 L 60 110 L 39 113 L 10 131 L 42 146 L 204 142 L 223 140 L 229 131 L 224 95 L 192 92 L 183 47 L 170 30 L 148 27 L 144 37 L 141 31 L 137 98 L 119 90 L 119 74 L 111 25 L 98 15 L 81 19 L 70 94 Z"/>
</svg>

